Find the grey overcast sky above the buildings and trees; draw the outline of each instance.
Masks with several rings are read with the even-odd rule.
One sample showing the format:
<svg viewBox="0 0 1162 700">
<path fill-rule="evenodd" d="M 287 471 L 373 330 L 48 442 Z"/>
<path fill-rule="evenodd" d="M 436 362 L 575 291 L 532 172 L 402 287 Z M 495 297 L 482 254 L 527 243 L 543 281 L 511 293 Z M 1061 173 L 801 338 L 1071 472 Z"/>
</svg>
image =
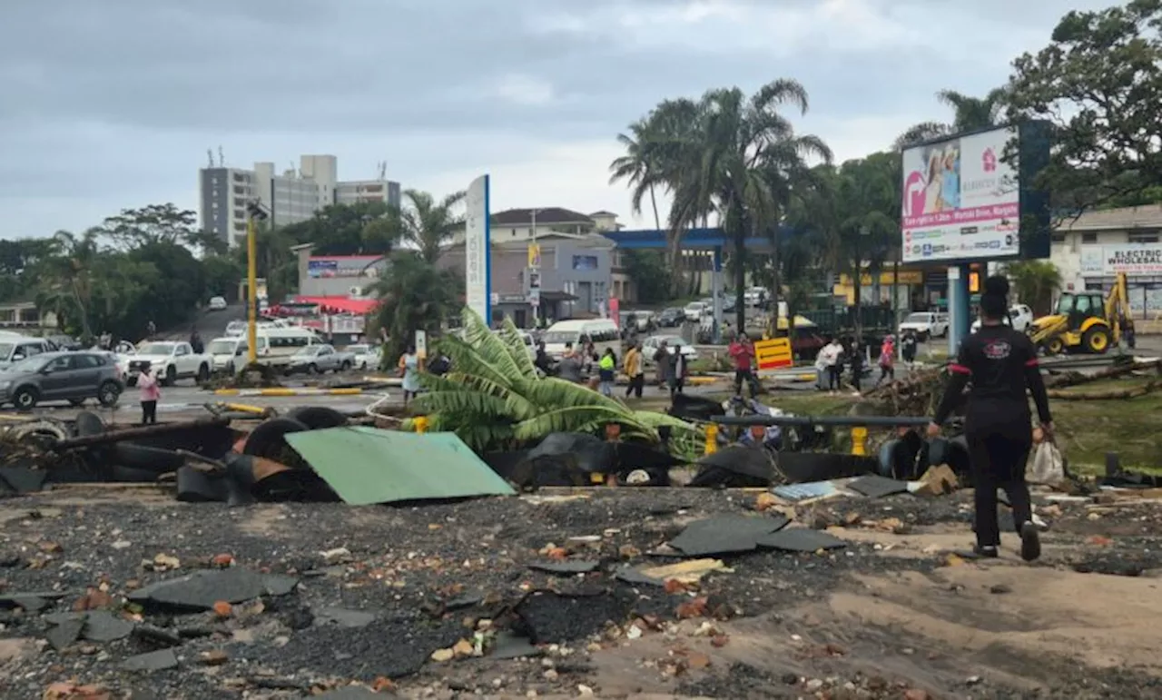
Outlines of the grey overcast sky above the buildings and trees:
<svg viewBox="0 0 1162 700">
<path fill-rule="evenodd" d="M 983 94 L 1070 8 L 1113 0 L 12 0 L 0 21 L 0 237 L 196 208 L 198 169 L 338 156 L 340 179 L 493 209 L 609 209 L 616 135 L 659 100 L 802 81 L 839 159 Z M 662 213 L 665 216 L 665 212 Z M 652 219 L 652 216 L 651 216 Z"/>
</svg>

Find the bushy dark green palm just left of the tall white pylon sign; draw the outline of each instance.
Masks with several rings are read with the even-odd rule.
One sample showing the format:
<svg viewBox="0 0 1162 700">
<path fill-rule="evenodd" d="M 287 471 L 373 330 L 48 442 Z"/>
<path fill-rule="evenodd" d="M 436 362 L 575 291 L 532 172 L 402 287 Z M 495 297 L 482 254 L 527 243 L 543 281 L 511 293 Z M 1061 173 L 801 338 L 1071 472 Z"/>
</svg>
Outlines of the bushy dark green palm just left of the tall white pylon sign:
<svg viewBox="0 0 1162 700">
<path fill-rule="evenodd" d="M 372 317 L 372 331 L 387 330 L 383 360 L 393 363 L 413 342 L 417 330 L 431 336 L 460 307 L 464 283 L 449 270 L 440 270 L 418 251 L 397 250 L 380 278 L 371 286 L 379 299 Z M 393 365 L 394 366 L 394 365 Z"/>
</svg>

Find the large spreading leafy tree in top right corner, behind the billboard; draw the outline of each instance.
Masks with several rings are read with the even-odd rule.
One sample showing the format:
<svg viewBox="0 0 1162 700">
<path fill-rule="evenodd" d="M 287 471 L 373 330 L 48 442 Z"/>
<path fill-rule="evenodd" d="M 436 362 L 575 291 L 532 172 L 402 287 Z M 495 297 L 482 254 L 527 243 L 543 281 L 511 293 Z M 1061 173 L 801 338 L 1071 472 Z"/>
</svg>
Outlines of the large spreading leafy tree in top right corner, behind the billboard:
<svg viewBox="0 0 1162 700">
<path fill-rule="evenodd" d="M 1037 185 L 1054 194 L 1056 207 L 1082 210 L 1157 193 L 1160 33 L 1162 0 L 1070 12 L 1047 47 L 1013 62 L 1010 120 L 1055 127 L 1050 163 Z"/>
</svg>

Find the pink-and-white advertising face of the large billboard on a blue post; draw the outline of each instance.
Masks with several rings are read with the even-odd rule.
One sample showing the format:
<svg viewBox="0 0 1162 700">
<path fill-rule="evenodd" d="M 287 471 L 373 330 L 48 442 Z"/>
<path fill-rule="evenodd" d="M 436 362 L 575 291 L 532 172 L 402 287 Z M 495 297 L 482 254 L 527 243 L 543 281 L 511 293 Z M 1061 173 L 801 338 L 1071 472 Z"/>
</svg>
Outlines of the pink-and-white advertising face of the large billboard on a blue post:
<svg viewBox="0 0 1162 700">
<path fill-rule="evenodd" d="M 1006 127 L 904 151 L 904 263 L 1020 252 L 1017 170 L 1000 159 L 1016 137 Z"/>
</svg>

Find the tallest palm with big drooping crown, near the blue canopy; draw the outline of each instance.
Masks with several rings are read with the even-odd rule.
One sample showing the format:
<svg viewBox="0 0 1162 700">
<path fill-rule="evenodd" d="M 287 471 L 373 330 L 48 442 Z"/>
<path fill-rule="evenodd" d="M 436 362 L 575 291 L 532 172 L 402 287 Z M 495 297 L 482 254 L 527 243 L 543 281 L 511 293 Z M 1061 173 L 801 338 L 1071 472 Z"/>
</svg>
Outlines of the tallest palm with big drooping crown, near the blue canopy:
<svg viewBox="0 0 1162 700">
<path fill-rule="evenodd" d="M 749 98 L 737 87 L 708 92 L 698 102 L 698 140 L 681 144 L 683 167 L 672 173 L 672 223 L 693 222 L 715 212 L 733 243 L 739 328 L 746 327 L 746 240 L 773 231 L 773 295 L 777 301 L 777 229 L 790 185 L 806 172 L 806 159 L 831 160 L 831 150 L 820 138 L 795 134 L 779 113 L 786 103 L 806 113 L 806 90 L 795 80 L 780 79 Z"/>
</svg>

